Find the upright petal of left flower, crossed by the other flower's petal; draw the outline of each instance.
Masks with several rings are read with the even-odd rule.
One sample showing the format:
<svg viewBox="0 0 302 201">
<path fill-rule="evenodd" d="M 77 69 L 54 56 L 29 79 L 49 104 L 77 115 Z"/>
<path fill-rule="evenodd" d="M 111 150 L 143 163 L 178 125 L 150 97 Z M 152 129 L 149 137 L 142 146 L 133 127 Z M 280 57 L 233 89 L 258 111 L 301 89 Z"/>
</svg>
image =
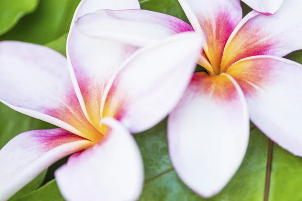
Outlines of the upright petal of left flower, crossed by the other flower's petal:
<svg viewBox="0 0 302 201">
<path fill-rule="evenodd" d="M 67 60 L 71 79 L 86 118 L 97 129 L 103 89 L 120 64 L 137 48 L 115 41 L 87 37 L 74 29 L 83 15 L 101 9 L 139 9 L 137 0 L 83 0 L 75 11 L 67 38 Z M 100 131 L 100 129 L 99 129 Z"/>
</svg>

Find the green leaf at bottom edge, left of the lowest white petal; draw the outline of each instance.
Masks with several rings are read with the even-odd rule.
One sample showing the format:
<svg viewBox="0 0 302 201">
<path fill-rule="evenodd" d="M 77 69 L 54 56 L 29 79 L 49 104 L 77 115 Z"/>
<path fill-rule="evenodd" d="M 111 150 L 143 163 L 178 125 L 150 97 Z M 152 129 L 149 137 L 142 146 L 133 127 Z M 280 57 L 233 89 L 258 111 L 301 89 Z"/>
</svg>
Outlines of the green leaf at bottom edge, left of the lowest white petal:
<svg viewBox="0 0 302 201">
<path fill-rule="evenodd" d="M 18 201 L 64 201 L 55 180 L 51 180 L 38 190 L 18 199 Z"/>
</svg>

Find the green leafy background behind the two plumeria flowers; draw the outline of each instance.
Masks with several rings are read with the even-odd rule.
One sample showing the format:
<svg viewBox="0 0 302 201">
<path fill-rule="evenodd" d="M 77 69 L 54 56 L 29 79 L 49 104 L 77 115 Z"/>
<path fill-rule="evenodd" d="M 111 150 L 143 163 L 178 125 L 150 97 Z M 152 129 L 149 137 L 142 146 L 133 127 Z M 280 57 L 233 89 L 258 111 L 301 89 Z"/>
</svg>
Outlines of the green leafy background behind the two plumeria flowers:
<svg viewBox="0 0 302 201">
<path fill-rule="evenodd" d="M 65 55 L 69 25 L 79 2 L 0 0 L 0 40 L 47 45 Z M 169 14 L 188 22 L 177 0 L 141 0 L 140 5 L 142 9 Z M 246 5 L 243 8 L 246 15 L 250 8 Z M 286 57 L 302 63 L 302 51 Z M 156 127 L 135 135 L 145 165 L 145 184 L 140 200 L 302 200 L 302 159 L 273 144 L 253 125 L 246 157 L 231 182 L 215 197 L 199 197 L 180 181 L 171 165 L 166 126 L 164 120 Z M 48 128 L 54 126 L 0 104 L 0 148 L 19 133 Z M 64 200 L 53 172 L 65 161 L 66 158 L 49 167 L 10 200 Z"/>
</svg>

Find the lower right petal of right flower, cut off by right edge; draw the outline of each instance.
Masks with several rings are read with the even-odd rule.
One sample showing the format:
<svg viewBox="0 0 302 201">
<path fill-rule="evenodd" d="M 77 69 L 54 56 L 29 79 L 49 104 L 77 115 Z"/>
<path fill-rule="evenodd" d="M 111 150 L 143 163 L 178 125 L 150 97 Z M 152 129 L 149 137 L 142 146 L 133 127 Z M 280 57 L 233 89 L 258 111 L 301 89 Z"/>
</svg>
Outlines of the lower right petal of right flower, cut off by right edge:
<svg viewBox="0 0 302 201">
<path fill-rule="evenodd" d="M 252 122 L 278 145 L 302 156 L 302 65 L 255 56 L 238 61 L 226 73 L 243 89 Z"/>
</svg>

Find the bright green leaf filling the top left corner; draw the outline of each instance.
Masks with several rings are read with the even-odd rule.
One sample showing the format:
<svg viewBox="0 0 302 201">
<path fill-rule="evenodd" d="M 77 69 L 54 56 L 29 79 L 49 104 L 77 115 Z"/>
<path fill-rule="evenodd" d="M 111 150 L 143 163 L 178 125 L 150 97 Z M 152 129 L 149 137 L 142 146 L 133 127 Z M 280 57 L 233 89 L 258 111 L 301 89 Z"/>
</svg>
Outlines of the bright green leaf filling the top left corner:
<svg viewBox="0 0 302 201">
<path fill-rule="evenodd" d="M 0 0 L 0 35 L 12 29 L 25 15 L 33 12 L 39 0 Z"/>
</svg>

